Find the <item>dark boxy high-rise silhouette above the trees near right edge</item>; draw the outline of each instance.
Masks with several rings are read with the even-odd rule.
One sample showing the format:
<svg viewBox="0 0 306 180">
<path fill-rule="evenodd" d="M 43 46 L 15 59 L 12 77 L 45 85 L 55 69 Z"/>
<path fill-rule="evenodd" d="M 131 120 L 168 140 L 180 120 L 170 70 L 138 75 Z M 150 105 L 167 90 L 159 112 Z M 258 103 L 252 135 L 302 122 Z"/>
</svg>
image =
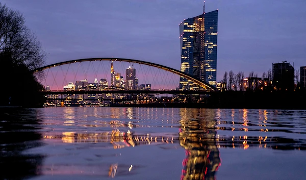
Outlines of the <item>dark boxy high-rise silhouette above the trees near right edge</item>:
<svg viewBox="0 0 306 180">
<path fill-rule="evenodd" d="M 282 63 L 272 64 L 273 86 L 277 90 L 293 90 L 294 89 L 294 68 L 290 63 L 284 61 Z"/>
</svg>

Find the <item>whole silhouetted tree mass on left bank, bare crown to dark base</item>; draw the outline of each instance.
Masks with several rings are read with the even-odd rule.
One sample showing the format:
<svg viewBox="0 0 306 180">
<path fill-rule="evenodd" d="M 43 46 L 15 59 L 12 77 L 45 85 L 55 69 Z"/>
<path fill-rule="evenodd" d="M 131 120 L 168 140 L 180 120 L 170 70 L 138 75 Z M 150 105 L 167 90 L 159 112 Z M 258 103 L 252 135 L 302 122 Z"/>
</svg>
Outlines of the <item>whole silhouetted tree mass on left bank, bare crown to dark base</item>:
<svg viewBox="0 0 306 180">
<path fill-rule="evenodd" d="M 12 99 L 15 105 L 30 105 L 36 98 L 35 92 L 42 88 L 31 70 L 44 64 L 45 53 L 24 23 L 20 12 L 0 3 L 0 75 L 7 85 L 1 88 L 5 99 L 1 104 L 7 105 L 8 99 Z"/>
</svg>

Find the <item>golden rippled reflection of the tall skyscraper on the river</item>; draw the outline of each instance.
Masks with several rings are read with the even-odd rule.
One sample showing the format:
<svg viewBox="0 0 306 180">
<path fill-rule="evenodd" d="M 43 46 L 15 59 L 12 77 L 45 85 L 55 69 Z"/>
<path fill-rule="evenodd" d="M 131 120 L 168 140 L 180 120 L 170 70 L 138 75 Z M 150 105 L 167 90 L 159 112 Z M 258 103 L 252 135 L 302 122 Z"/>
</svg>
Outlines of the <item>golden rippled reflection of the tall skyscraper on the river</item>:
<svg viewBox="0 0 306 180">
<path fill-rule="evenodd" d="M 181 179 L 215 179 L 221 162 L 216 144 L 215 110 L 192 111 L 195 112 L 181 114 L 180 144 L 186 150 Z"/>
</svg>

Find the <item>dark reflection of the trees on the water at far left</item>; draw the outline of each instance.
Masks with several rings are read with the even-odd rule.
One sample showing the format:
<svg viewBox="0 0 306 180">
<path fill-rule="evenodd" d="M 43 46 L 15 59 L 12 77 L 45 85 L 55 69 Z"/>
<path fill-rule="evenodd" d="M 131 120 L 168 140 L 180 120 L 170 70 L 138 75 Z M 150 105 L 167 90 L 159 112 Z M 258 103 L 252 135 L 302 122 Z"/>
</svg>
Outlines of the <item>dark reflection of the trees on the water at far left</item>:
<svg viewBox="0 0 306 180">
<path fill-rule="evenodd" d="M 35 110 L 0 109 L 0 179 L 24 179 L 41 174 L 43 156 L 25 150 L 41 146 Z M 14 172 L 17 171 L 17 172 Z"/>
</svg>

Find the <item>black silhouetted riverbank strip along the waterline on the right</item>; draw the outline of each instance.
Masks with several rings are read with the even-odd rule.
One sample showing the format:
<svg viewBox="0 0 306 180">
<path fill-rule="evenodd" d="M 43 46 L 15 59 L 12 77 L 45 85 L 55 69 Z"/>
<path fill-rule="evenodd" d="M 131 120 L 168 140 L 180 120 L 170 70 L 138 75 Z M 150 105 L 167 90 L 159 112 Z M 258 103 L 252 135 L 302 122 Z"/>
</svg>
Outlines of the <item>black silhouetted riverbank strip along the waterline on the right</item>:
<svg viewBox="0 0 306 180">
<path fill-rule="evenodd" d="M 205 102 L 112 104 L 110 107 L 306 110 L 306 91 L 222 91 Z"/>
</svg>

